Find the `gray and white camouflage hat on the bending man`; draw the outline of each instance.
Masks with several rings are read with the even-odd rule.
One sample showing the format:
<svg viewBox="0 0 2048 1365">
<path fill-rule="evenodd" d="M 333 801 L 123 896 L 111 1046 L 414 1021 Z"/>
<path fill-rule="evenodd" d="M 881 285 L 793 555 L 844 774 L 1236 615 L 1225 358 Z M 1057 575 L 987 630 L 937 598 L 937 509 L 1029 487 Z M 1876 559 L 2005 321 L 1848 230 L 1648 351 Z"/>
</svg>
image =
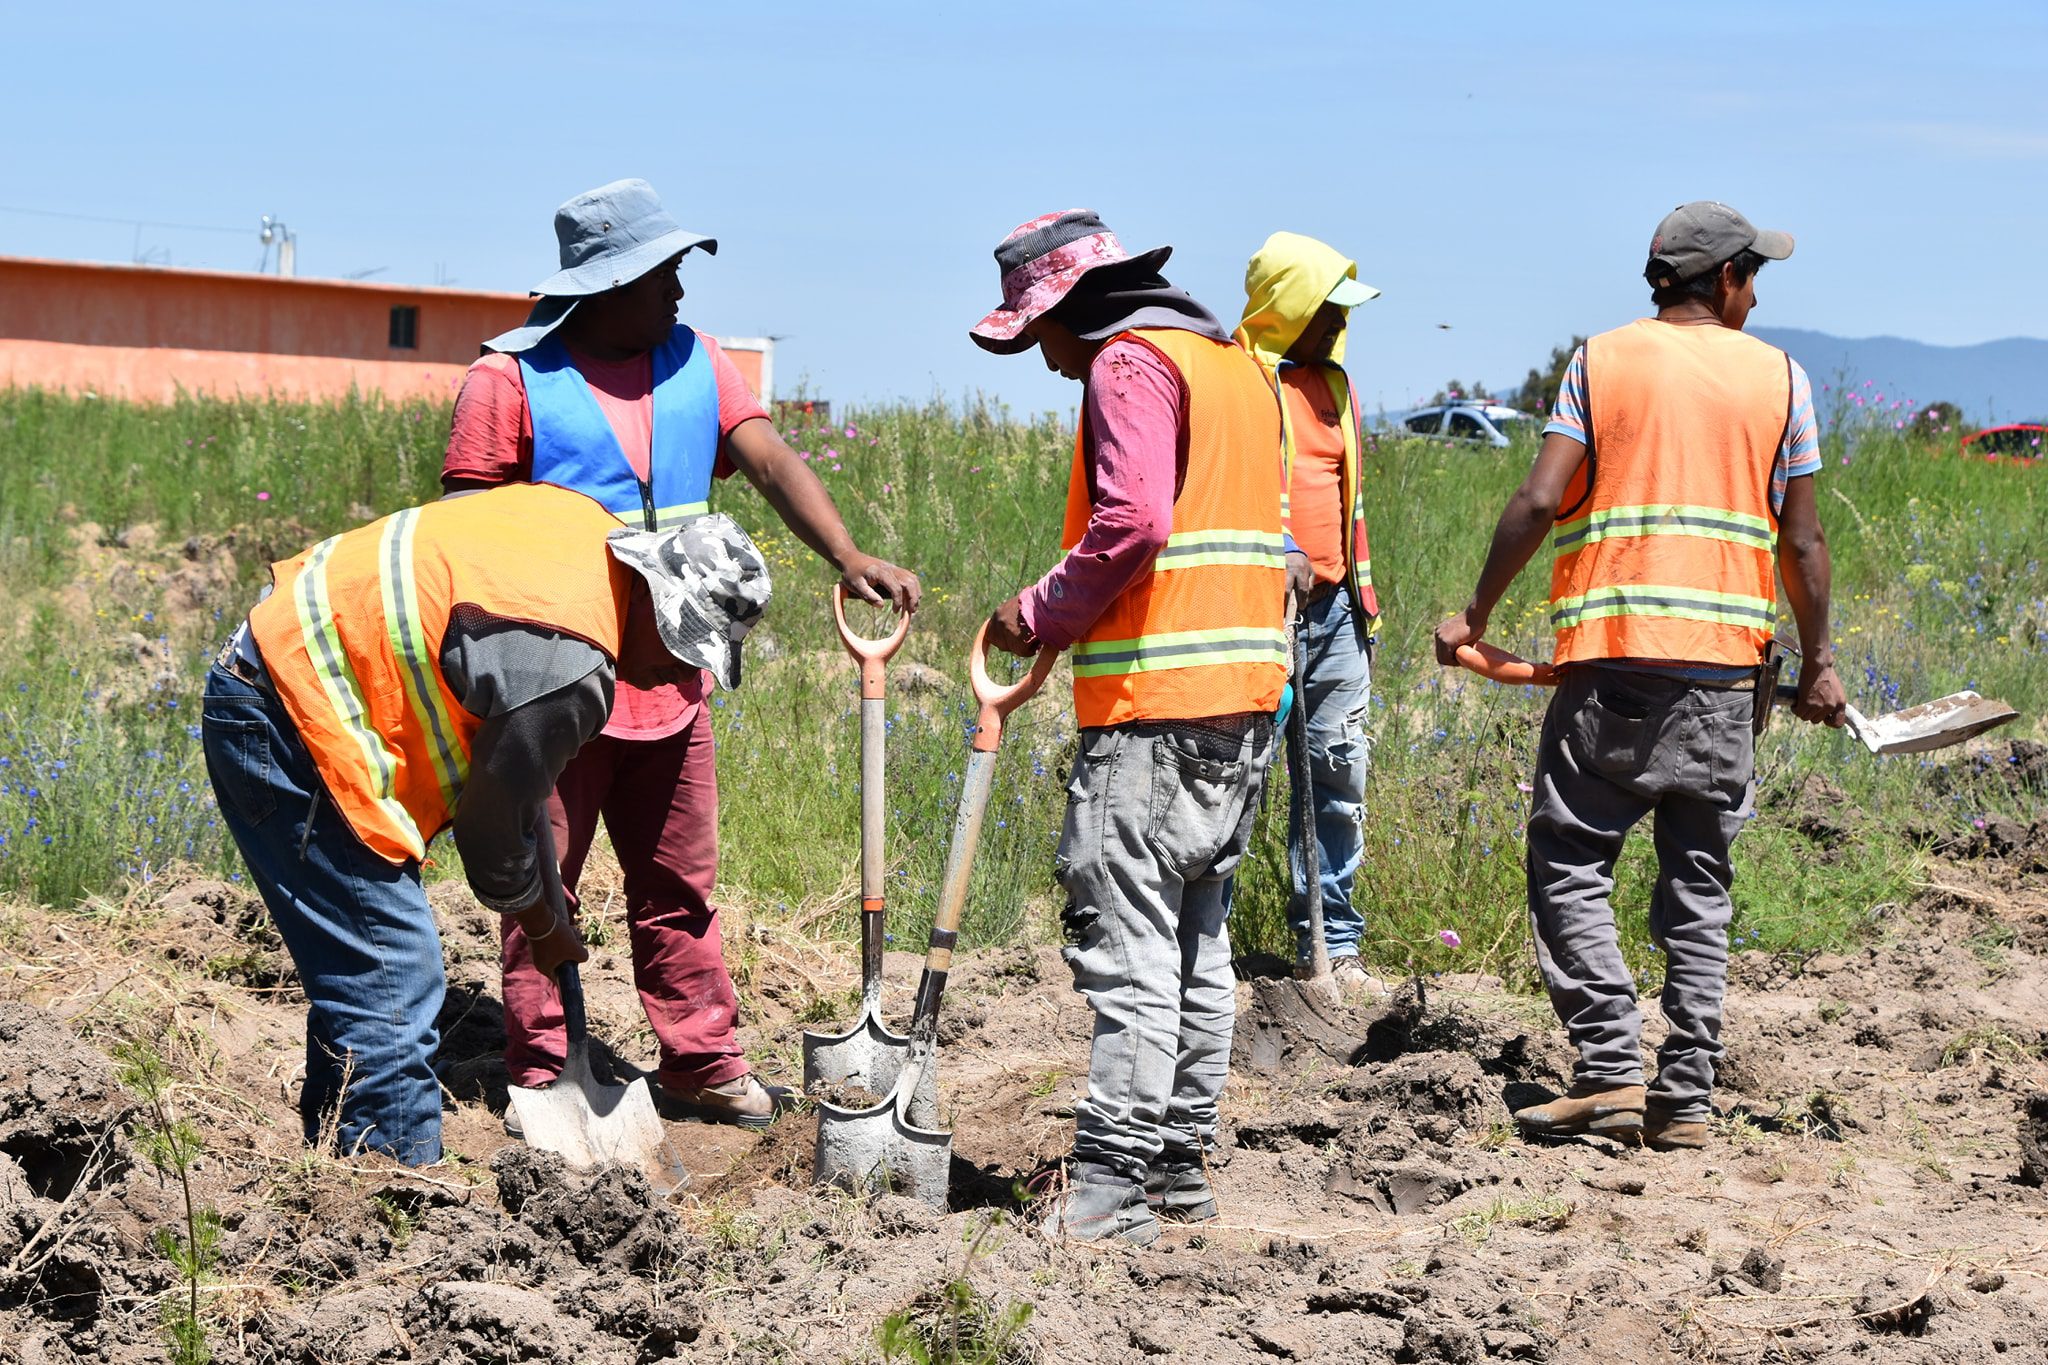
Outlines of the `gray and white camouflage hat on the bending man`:
<svg viewBox="0 0 2048 1365">
<path fill-rule="evenodd" d="M 606 544 L 647 579 L 668 653 L 737 688 L 739 641 L 760 624 L 770 591 L 768 561 L 739 522 L 713 512 L 668 530 L 618 528 Z"/>
</svg>

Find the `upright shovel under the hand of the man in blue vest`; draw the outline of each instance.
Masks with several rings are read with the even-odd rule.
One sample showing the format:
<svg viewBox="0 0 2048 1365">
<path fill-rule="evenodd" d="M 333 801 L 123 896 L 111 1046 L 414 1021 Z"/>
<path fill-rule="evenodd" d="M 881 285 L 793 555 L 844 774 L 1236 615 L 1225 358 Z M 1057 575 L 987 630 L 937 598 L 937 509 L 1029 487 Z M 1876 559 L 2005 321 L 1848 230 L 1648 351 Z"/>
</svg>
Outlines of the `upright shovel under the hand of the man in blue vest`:
<svg viewBox="0 0 2048 1365">
<path fill-rule="evenodd" d="M 903 1070 L 909 1040 L 883 1023 L 883 665 L 903 647 L 909 616 L 883 641 L 868 641 L 846 626 L 846 583 L 831 591 L 831 616 L 840 643 L 860 663 L 860 1017 L 844 1033 L 803 1036 L 803 1089 L 860 1087 L 887 1095 Z"/>
</svg>

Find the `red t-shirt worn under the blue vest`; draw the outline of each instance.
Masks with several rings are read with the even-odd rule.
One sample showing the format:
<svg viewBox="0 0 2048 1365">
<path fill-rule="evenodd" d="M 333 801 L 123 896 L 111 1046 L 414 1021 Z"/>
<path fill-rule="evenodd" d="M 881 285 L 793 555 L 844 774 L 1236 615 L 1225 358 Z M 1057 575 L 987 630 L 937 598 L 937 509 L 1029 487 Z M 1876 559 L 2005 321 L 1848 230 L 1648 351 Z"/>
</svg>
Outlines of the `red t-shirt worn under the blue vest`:
<svg viewBox="0 0 2048 1365">
<path fill-rule="evenodd" d="M 719 383 L 719 463 L 713 473 L 729 479 L 735 467 L 725 450 L 725 438 L 741 422 L 766 417 L 768 409 L 754 397 L 717 342 L 702 332 L 696 340 L 711 356 L 711 372 Z M 612 362 L 569 352 L 569 358 L 590 385 L 598 411 L 612 424 L 633 473 L 645 479 L 653 458 L 653 356 Z M 518 356 L 494 352 L 471 364 L 463 377 L 463 391 L 455 397 L 455 424 L 449 430 L 449 454 L 440 465 L 440 481 L 451 479 L 473 483 L 532 479 L 532 409 L 526 405 L 526 381 Z M 680 688 L 651 692 L 618 684 L 604 733 L 618 739 L 668 739 L 688 729 L 702 704 L 702 673 Z"/>
</svg>

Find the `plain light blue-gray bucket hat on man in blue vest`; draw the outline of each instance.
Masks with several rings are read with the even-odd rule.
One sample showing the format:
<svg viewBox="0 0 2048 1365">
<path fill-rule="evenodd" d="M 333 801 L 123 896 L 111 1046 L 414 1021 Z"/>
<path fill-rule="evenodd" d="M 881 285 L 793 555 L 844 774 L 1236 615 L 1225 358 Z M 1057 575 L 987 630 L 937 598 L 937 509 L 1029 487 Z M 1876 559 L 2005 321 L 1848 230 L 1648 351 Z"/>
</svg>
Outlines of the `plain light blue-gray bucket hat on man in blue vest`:
<svg viewBox="0 0 2048 1365">
<path fill-rule="evenodd" d="M 541 297 L 524 325 L 494 336 L 483 350 L 530 350 L 561 325 L 578 299 L 618 289 L 698 246 L 719 254 L 719 239 L 676 223 L 645 180 L 612 180 L 555 209 L 555 241 L 561 270 L 532 287 Z"/>
</svg>

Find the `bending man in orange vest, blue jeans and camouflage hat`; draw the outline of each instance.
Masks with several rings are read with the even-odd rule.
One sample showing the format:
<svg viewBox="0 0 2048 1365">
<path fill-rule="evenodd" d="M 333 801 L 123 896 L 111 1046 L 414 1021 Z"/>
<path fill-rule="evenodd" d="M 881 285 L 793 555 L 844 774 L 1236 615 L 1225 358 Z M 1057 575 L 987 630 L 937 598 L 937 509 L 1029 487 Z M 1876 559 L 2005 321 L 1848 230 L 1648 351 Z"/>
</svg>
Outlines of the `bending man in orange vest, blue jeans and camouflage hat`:
<svg viewBox="0 0 2048 1365">
<path fill-rule="evenodd" d="M 332 1126 L 344 1152 L 440 1158 L 426 845 L 453 827 L 477 900 L 547 978 L 584 962 L 541 890 L 549 790 L 621 684 L 737 681 L 766 602 L 727 518 L 635 532 L 547 485 L 408 508 L 272 567 L 207 673 L 201 735 L 305 990 L 307 1142 Z"/>
</svg>

